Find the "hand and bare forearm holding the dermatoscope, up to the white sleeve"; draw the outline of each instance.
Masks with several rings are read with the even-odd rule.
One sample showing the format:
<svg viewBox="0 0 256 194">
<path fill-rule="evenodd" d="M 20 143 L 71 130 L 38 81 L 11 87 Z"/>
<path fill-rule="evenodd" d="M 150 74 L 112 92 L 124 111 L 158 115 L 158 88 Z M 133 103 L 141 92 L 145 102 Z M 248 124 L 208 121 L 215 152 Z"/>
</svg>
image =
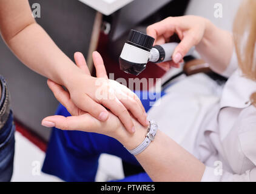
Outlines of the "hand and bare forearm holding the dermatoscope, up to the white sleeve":
<svg viewBox="0 0 256 194">
<path fill-rule="evenodd" d="M 209 63 L 214 72 L 222 74 L 227 70 L 234 51 L 231 33 L 217 28 L 211 21 L 199 16 L 169 17 L 147 27 L 147 34 L 156 39 L 155 44 L 168 42 L 174 33 L 181 42 L 173 52 L 173 61 L 160 65 L 176 67 L 195 46 L 201 58 Z"/>
</svg>

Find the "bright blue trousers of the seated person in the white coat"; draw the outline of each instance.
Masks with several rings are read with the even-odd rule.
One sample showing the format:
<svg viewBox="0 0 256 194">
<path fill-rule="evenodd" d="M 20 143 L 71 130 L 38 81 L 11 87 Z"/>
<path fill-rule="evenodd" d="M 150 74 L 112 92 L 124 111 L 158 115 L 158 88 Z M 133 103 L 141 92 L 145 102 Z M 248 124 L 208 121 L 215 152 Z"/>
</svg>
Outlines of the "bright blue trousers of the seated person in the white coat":
<svg viewBox="0 0 256 194">
<path fill-rule="evenodd" d="M 163 96 L 165 93 L 135 92 L 142 96 Z M 150 102 L 156 99 L 143 99 L 141 102 L 146 110 Z M 56 115 L 70 116 L 63 105 L 59 105 Z M 64 131 L 53 128 L 46 152 L 42 172 L 58 176 L 64 181 L 95 181 L 98 169 L 98 158 L 101 153 L 120 157 L 126 162 L 140 165 L 135 156 L 131 155 L 116 139 L 98 133 Z M 140 173 L 124 178 L 124 182 L 151 181 L 147 173 Z"/>
</svg>

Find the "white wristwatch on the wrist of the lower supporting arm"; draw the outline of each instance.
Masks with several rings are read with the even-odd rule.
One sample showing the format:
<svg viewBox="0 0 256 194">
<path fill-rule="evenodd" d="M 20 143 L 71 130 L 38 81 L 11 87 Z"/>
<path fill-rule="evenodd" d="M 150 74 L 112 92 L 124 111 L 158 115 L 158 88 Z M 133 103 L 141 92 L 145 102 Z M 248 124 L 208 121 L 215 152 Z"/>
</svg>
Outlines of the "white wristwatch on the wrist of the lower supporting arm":
<svg viewBox="0 0 256 194">
<path fill-rule="evenodd" d="M 135 149 L 128 150 L 132 155 L 138 155 L 139 153 L 143 152 L 149 146 L 150 142 L 152 142 L 155 139 L 155 135 L 157 134 L 158 130 L 157 122 L 149 122 L 149 129 L 147 129 L 147 134 L 144 141 L 140 144 L 140 146 L 136 147 Z"/>
</svg>

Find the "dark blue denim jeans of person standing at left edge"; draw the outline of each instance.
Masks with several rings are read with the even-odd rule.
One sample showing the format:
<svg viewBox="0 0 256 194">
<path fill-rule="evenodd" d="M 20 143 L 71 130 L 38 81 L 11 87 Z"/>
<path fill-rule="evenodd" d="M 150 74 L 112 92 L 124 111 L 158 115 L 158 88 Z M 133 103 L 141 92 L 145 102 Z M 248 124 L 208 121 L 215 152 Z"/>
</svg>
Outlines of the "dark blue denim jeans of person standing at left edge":
<svg viewBox="0 0 256 194">
<path fill-rule="evenodd" d="M 0 76 L 0 182 L 10 181 L 13 173 L 13 158 L 15 152 L 15 125 L 10 110 L 10 96 L 4 78 Z"/>
</svg>

